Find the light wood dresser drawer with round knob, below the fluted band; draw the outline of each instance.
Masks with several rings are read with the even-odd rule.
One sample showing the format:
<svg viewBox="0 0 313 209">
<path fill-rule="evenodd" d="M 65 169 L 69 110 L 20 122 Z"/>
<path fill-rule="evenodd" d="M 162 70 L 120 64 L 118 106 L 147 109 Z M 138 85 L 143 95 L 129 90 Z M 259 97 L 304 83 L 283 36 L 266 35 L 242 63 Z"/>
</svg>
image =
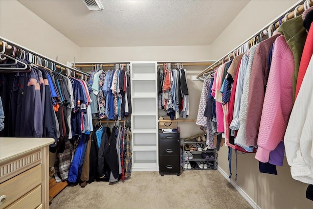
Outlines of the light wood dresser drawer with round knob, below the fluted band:
<svg viewBox="0 0 313 209">
<path fill-rule="evenodd" d="M 4 209 L 27 192 L 42 183 L 42 165 L 39 164 L 12 179 L 0 184 L 0 196 L 6 195 L 6 200 L 0 205 Z"/>
</svg>

